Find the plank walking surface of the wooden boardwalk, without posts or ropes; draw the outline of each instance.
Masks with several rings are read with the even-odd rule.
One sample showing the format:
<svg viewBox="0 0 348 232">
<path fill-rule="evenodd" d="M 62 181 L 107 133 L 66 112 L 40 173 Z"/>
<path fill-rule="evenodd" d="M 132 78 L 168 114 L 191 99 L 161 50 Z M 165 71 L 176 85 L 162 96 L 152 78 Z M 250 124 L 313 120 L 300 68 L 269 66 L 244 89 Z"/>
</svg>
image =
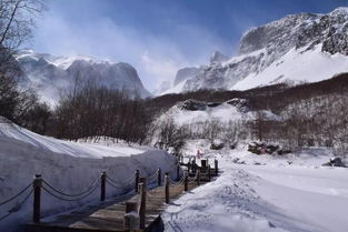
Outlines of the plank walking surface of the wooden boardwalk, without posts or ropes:
<svg viewBox="0 0 348 232">
<path fill-rule="evenodd" d="M 197 183 L 189 183 L 189 191 L 195 189 Z M 170 199 L 178 199 L 183 192 L 183 185 L 170 186 Z M 98 205 L 87 206 L 71 211 L 68 214 L 60 214 L 52 221 L 41 220 L 40 223 L 27 225 L 28 232 L 110 232 L 123 230 L 126 201 L 138 202 L 139 194 L 125 195 L 109 200 Z M 148 226 L 167 206 L 165 203 L 163 186 L 149 190 L 147 193 L 146 225 Z M 170 203 L 169 203 L 170 204 Z"/>
</svg>

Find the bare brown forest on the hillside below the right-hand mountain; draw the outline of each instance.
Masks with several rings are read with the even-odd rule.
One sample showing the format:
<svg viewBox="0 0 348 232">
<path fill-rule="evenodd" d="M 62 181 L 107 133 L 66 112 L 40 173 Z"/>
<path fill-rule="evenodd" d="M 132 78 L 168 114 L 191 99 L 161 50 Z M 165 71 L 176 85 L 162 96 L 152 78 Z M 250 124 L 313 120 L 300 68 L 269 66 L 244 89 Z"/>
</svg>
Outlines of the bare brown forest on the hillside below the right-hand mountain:
<svg viewBox="0 0 348 232">
<path fill-rule="evenodd" d="M 156 127 L 161 131 L 157 137 L 161 143 L 171 145 L 176 140 L 221 139 L 229 144 L 255 140 L 278 143 L 285 149 L 297 150 L 305 147 L 327 147 L 338 153 L 348 151 L 348 74 L 317 83 L 296 87 L 282 84 L 247 91 L 208 91 L 163 95 L 150 100 L 150 105 L 159 109 L 172 104 L 173 99 L 187 97 L 200 101 L 227 101 L 245 98 L 255 120 L 238 120 L 222 123 L 218 120 L 189 125 L 175 125 L 171 121 Z M 153 104 L 156 102 L 156 104 Z M 277 119 L 270 119 L 266 112 Z M 178 134 L 169 137 L 168 134 Z M 170 142 L 168 140 L 170 138 Z M 166 147 L 166 145 L 163 145 Z"/>
</svg>

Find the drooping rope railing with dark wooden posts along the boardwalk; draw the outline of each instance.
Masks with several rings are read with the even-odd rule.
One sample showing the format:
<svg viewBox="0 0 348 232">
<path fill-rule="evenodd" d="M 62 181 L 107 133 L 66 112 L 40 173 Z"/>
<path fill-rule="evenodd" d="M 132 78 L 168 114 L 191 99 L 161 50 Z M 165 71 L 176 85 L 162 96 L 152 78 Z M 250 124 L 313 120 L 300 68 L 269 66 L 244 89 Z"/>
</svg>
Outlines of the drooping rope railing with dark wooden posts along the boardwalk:
<svg viewBox="0 0 348 232">
<path fill-rule="evenodd" d="M 180 169 L 180 164 L 176 163 L 173 165 L 171 165 L 171 168 L 177 167 L 177 180 L 179 179 L 179 174 L 180 172 L 182 173 L 181 169 Z M 172 170 L 172 169 L 171 169 Z M 215 171 L 217 172 L 217 162 L 216 162 L 216 169 Z M 96 190 L 98 188 L 100 188 L 100 201 L 105 201 L 106 199 L 106 190 L 107 190 L 107 184 L 118 189 L 118 190 L 129 190 L 129 188 L 133 189 L 135 192 L 139 192 L 138 189 L 138 184 L 139 181 L 141 179 L 148 180 L 145 181 L 142 186 L 142 191 L 140 193 L 140 195 L 142 195 L 142 198 L 146 199 L 147 201 L 155 201 L 153 195 L 158 195 L 161 194 L 163 192 L 165 196 L 166 196 L 166 203 L 168 203 L 168 199 L 169 199 L 169 186 L 180 186 L 180 185 L 185 185 L 185 191 L 187 191 L 187 185 L 188 183 L 193 183 L 193 182 L 198 182 L 199 185 L 199 176 L 201 175 L 206 175 L 206 172 L 200 172 L 200 169 L 198 168 L 198 170 L 196 170 L 196 175 L 193 178 L 190 178 L 188 174 L 189 172 L 186 172 L 183 175 L 181 175 L 181 178 L 178 181 L 173 181 L 170 180 L 169 178 L 169 173 L 167 172 L 165 174 L 165 184 L 162 184 L 162 172 L 161 169 L 158 169 L 156 172 L 153 172 L 152 174 L 147 175 L 147 178 L 140 178 L 140 172 L 139 170 L 136 171 L 136 173 L 128 180 L 126 181 L 116 181 L 112 178 L 108 176 L 106 172 L 102 172 L 101 176 L 98 178 L 97 180 L 92 181 L 87 189 L 84 189 L 81 192 L 64 192 L 58 188 L 56 188 L 52 183 L 50 183 L 49 181 L 44 180 L 41 178 L 41 175 L 36 175 L 36 179 L 29 183 L 28 185 L 26 185 L 26 188 L 23 188 L 21 191 L 19 191 L 16 195 L 0 202 L 0 206 L 9 204 L 13 201 L 16 201 L 17 199 L 17 203 L 14 204 L 14 206 L 12 206 L 10 210 L 8 210 L 8 213 L 6 213 L 4 215 L 0 215 L 0 221 L 7 219 L 8 216 L 10 216 L 12 213 L 18 212 L 22 205 L 28 201 L 28 199 L 30 198 L 30 195 L 33 195 L 33 222 L 38 223 L 40 222 L 40 202 L 41 202 L 41 190 L 46 193 L 49 194 L 58 200 L 61 201 L 69 201 L 69 202 L 78 202 L 78 201 L 82 201 L 86 200 L 88 196 L 92 195 Z M 155 180 L 157 180 L 157 188 L 153 188 L 155 185 Z M 153 189 L 147 188 L 147 185 L 152 186 Z M 32 188 L 30 190 L 30 188 Z M 147 190 L 149 189 L 149 190 Z M 29 191 L 30 190 L 30 191 Z M 27 192 L 27 193 L 26 193 Z M 145 194 L 146 193 L 146 194 Z M 152 195 L 153 194 L 153 195 Z M 146 198 L 148 196 L 148 198 Z M 138 205 L 138 213 L 140 211 L 142 211 L 140 209 L 141 205 L 141 198 L 139 198 L 138 200 L 140 203 Z M 143 202 L 142 202 L 143 204 Z"/>
</svg>

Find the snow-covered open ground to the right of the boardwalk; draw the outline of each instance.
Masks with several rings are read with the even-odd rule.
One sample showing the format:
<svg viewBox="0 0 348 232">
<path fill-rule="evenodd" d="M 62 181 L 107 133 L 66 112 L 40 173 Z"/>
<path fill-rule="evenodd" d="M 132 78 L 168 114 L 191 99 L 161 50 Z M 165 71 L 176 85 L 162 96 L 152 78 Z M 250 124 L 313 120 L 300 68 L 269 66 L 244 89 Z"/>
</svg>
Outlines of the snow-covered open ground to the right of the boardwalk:
<svg viewBox="0 0 348 232">
<path fill-rule="evenodd" d="M 220 176 L 172 202 L 166 231 L 347 231 L 348 169 L 321 167 L 330 151 L 271 157 L 202 144 L 189 143 L 188 154 L 218 159 Z"/>
</svg>

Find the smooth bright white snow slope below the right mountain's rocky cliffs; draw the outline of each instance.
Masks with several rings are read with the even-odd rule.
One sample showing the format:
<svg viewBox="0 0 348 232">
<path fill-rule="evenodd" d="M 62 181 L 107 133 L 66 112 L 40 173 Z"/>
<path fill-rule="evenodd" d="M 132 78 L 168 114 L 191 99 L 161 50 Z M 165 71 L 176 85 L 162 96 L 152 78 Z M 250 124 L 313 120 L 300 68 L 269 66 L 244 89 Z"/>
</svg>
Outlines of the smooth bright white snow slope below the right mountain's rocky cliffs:
<svg viewBox="0 0 348 232">
<path fill-rule="evenodd" d="M 348 72 L 348 57 L 321 52 L 319 44 L 310 51 L 291 49 L 267 69 L 237 82 L 231 90 L 247 90 L 276 83 L 317 82 L 344 72 Z"/>
</svg>

